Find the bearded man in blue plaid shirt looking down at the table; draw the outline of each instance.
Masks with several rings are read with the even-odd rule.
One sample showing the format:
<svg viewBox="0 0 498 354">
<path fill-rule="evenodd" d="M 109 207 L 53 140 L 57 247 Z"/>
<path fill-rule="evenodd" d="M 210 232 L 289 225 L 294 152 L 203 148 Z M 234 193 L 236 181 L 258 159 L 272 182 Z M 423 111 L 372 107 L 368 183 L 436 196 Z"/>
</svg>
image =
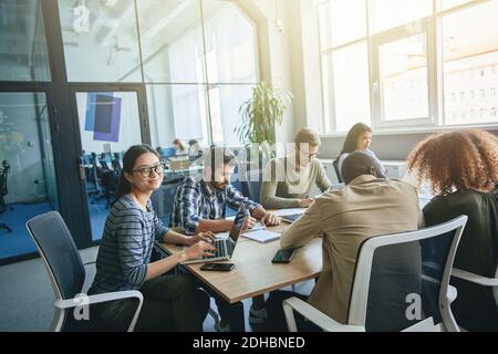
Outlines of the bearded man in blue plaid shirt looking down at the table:
<svg viewBox="0 0 498 354">
<path fill-rule="evenodd" d="M 249 214 L 248 228 L 252 228 L 257 220 L 266 226 L 279 225 L 280 219 L 276 215 L 243 197 L 230 184 L 236 165 L 237 159 L 230 149 L 212 147 L 206 154 L 203 176 L 198 179 L 188 177 L 178 187 L 169 219 L 170 227 L 183 228 L 187 235 L 228 231 L 234 226 L 234 220 L 225 219 L 227 205 L 236 210 L 243 205 Z M 226 322 L 229 316 L 228 310 L 222 305 L 218 305 L 218 309 L 221 321 L 217 330 L 229 330 Z M 267 317 L 264 298 L 253 298 L 249 322 L 259 324 Z"/>
</svg>

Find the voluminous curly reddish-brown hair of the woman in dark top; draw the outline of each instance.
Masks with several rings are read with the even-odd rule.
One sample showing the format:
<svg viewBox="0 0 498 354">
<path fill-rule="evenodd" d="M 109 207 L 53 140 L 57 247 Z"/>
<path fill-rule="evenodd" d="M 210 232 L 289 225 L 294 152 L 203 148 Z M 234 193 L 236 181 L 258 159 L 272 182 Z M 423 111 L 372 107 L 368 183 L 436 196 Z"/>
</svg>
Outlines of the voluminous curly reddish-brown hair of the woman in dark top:
<svg viewBox="0 0 498 354">
<path fill-rule="evenodd" d="M 487 189 L 498 184 L 498 138 L 476 128 L 436 133 L 412 150 L 407 167 L 438 195 Z"/>
</svg>

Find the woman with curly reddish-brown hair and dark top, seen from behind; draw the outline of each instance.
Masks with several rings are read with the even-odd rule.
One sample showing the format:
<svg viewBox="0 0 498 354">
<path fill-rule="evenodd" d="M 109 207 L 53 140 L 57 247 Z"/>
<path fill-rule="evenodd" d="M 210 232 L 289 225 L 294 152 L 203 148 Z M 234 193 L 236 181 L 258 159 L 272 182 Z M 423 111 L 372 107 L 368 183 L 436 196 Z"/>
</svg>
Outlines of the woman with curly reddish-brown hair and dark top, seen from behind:
<svg viewBox="0 0 498 354">
<path fill-rule="evenodd" d="M 487 278 L 498 264 L 498 138 L 475 128 L 438 133 L 408 156 L 408 169 L 427 181 L 435 198 L 424 208 L 427 226 L 467 215 L 454 267 Z M 497 331 L 492 288 L 452 278 L 458 290 L 452 310 L 468 331 Z"/>
</svg>

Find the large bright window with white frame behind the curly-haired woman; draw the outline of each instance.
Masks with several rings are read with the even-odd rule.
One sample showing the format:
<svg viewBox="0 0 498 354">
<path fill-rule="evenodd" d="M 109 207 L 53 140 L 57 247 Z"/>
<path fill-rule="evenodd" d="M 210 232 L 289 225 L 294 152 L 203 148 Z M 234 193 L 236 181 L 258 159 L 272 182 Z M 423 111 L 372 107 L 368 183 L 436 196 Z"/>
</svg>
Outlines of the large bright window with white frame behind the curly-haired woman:
<svg viewBox="0 0 498 354">
<path fill-rule="evenodd" d="M 498 0 L 330 0 L 319 8 L 324 127 L 497 122 Z"/>
</svg>

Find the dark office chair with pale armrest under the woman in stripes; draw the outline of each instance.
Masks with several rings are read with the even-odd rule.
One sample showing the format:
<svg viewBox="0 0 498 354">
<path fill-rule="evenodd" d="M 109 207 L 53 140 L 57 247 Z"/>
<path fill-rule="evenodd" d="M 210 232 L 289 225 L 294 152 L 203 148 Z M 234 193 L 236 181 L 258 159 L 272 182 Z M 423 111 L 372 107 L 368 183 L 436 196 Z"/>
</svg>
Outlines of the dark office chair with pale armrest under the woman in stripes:
<svg viewBox="0 0 498 354">
<path fill-rule="evenodd" d="M 43 259 L 55 295 L 53 302 L 55 313 L 50 331 L 91 330 L 85 326 L 87 321 L 77 321 L 73 317 L 72 309 L 86 304 L 137 299 L 137 308 L 131 320 L 128 332 L 134 330 L 144 300 L 139 291 L 116 291 L 81 296 L 85 281 L 84 264 L 71 232 L 59 212 L 50 211 L 39 215 L 28 220 L 27 228 Z"/>
</svg>

